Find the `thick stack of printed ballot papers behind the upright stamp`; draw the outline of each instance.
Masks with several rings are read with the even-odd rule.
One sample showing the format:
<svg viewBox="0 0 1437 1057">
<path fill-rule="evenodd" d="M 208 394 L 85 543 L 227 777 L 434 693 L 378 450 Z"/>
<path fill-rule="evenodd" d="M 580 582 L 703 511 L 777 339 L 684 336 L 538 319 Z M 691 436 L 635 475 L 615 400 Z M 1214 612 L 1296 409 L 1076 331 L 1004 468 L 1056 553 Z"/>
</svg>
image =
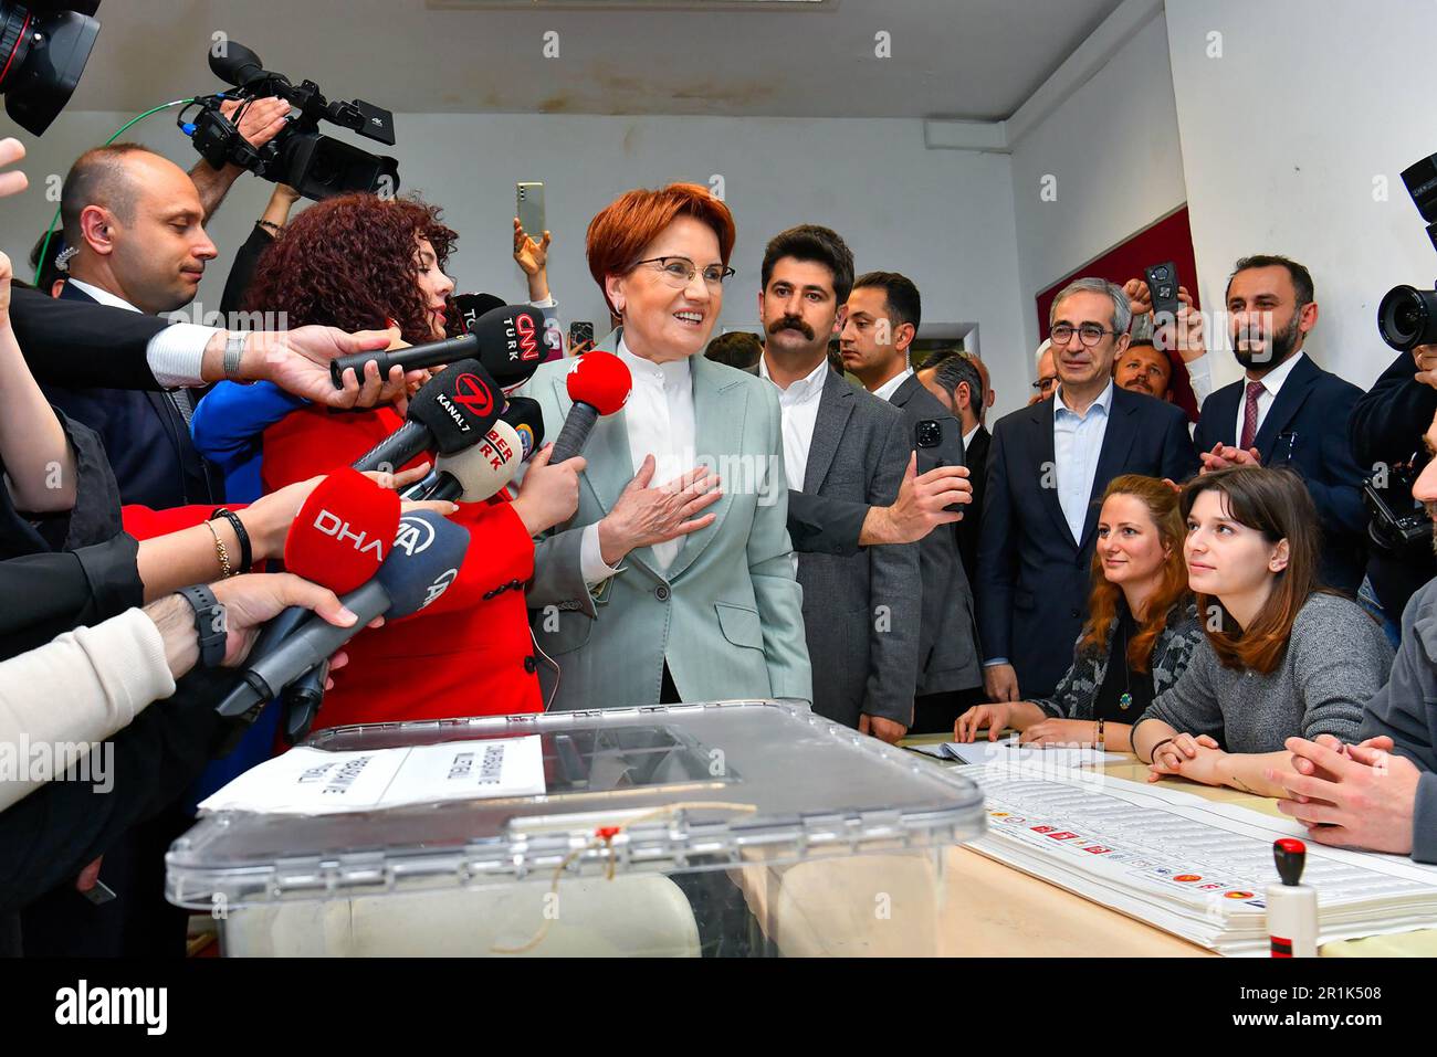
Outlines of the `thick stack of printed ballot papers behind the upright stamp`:
<svg viewBox="0 0 1437 1057">
<path fill-rule="evenodd" d="M 1220 954 L 1269 952 L 1272 843 L 1306 837 L 1299 823 L 1088 771 L 966 774 L 987 797 L 976 852 Z M 1305 843 L 1319 945 L 1437 926 L 1437 867 Z"/>
</svg>

